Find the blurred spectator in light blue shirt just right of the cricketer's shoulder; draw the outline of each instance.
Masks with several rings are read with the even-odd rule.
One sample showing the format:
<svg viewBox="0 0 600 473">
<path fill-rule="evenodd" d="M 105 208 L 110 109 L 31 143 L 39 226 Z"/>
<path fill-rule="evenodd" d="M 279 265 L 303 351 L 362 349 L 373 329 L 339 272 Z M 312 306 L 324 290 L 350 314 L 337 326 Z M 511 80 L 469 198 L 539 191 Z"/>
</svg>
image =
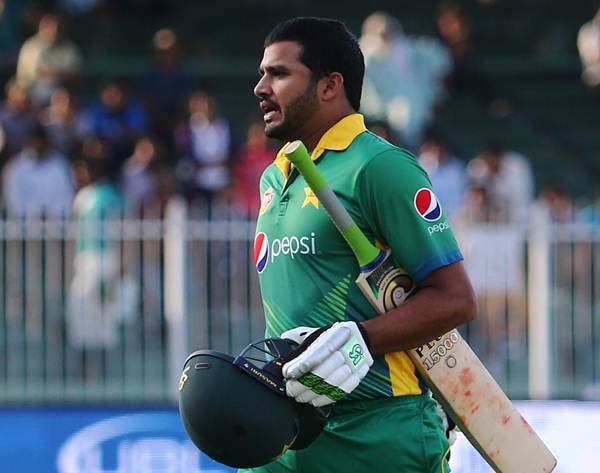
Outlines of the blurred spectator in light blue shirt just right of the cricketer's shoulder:
<svg viewBox="0 0 600 473">
<path fill-rule="evenodd" d="M 433 132 L 421 145 L 419 162 L 429 174 L 442 207 L 452 218 L 464 205 L 467 183 L 465 164 L 451 154 L 447 143 Z"/>
</svg>

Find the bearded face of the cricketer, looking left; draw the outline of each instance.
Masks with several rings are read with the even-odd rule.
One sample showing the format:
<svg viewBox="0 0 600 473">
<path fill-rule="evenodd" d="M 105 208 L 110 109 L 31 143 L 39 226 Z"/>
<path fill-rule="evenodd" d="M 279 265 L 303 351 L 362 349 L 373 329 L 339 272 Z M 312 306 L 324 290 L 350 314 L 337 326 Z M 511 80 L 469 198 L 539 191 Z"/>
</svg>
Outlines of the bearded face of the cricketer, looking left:
<svg viewBox="0 0 600 473">
<path fill-rule="evenodd" d="M 317 84 L 299 55 L 302 46 L 281 41 L 265 48 L 260 63 L 261 78 L 254 87 L 260 99 L 265 134 L 269 138 L 292 141 L 318 109 Z"/>
</svg>

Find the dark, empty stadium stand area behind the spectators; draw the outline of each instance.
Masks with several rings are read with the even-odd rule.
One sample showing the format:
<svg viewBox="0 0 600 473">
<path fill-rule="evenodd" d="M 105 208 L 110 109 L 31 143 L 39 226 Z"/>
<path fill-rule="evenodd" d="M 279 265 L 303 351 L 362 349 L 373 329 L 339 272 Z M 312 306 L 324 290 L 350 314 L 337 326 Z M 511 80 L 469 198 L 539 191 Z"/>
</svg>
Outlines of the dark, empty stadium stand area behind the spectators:
<svg viewBox="0 0 600 473">
<path fill-rule="evenodd" d="M 251 87 L 262 39 L 272 24 L 293 15 L 336 16 L 359 34 L 372 12 L 356 1 L 345 2 L 343 11 L 310 0 L 285 2 L 285 7 L 276 1 L 234 0 L 226 10 L 218 2 L 184 0 L 140 5 L 107 2 L 93 15 L 69 18 L 71 36 L 85 52 L 82 92 L 94 93 L 107 71 L 138 80 L 152 60 L 152 35 L 169 26 L 184 44 L 186 70 L 215 94 L 240 133 L 255 113 Z M 580 80 L 575 40 L 591 8 L 585 2 L 541 0 L 467 2 L 464 7 L 482 71 L 510 110 L 494 116 L 473 97 L 452 97 L 441 111 L 440 125 L 454 138 L 458 155 L 472 157 L 490 138 L 502 138 L 530 157 L 538 188 L 560 180 L 575 196 L 585 195 L 600 173 L 595 139 L 600 118 L 597 101 Z M 384 0 L 378 8 L 398 17 L 407 34 L 436 33 L 438 2 Z M 2 70 L 3 78 L 9 74 Z M 560 171 L 565 166 L 566 182 Z"/>
</svg>

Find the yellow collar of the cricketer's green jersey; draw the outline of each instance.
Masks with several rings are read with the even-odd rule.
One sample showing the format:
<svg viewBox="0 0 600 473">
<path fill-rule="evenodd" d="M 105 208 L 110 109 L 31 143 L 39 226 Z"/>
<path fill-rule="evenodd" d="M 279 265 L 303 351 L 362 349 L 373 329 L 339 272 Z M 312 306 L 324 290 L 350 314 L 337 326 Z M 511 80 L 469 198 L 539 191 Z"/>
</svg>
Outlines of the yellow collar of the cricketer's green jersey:
<svg viewBox="0 0 600 473">
<path fill-rule="evenodd" d="M 365 118 L 360 113 L 353 113 L 342 118 L 339 122 L 333 125 L 317 143 L 317 146 L 311 153 L 313 161 L 319 159 L 319 157 L 326 151 L 343 151 L 352 144 L 354 139 L 360 135 L 363 131 L 366 131 Z M 288 145 L 286 143 L 277 153 L 275 158 L 275 165 L 285 176 L 287 180 L 290 175 L 290 162 L 283 155 L 284 148 Z"/>
</svg>

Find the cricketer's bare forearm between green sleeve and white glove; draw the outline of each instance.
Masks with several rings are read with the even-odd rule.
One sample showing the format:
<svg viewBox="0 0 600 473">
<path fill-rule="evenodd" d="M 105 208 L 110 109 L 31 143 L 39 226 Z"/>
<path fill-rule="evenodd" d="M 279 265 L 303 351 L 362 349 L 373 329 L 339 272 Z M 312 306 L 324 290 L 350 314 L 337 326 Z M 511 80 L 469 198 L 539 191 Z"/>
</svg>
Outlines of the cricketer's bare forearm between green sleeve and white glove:
<svg viewBox="0 0 600 473">
<path fill-rule="evenodd" d="M 424 284 L 405 304 L 362 323 L 371 353 L 421 346 L 475 317 L 475 296 L 468 280 L 463 284 Z"/>
</svg>

